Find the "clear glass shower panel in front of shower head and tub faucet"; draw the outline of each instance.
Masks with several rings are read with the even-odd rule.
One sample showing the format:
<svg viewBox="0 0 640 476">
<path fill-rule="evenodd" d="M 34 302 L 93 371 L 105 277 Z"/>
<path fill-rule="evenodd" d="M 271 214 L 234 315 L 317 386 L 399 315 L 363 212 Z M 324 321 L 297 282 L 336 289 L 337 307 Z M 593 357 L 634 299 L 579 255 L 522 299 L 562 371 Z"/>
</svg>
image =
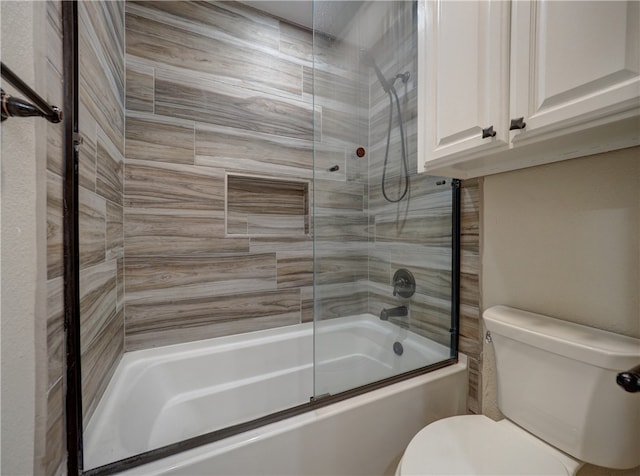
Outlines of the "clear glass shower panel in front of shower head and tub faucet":
<svg viewBox="0 0 640 476">
<path fill-rule="evenodd" d="M 319 0 L 313 13 L 320 398 L 455 354 L 454 194 L 416 173 L 417 2 Z"/>
</svg>

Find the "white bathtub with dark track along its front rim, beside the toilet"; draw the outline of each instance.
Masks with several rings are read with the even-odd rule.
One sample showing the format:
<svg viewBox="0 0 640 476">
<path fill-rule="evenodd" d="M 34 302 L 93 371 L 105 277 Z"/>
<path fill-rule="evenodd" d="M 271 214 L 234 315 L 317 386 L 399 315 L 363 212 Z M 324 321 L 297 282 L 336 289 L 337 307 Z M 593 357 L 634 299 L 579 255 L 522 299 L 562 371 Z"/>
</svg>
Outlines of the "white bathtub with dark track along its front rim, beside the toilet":
<svg viewBox="0 0 640 476">
<path fill-rule="evenodd" d="M 84 468 L 449 357 L 447 347 L 372 315 L 322 321 L 316 335 L 315 392 L 313 323 L 126 353 L 84 432 Z M 383 474 L 420 428 L 464 413 L 466 380 L 461 356 L 123 474 Z"/>
</svg>

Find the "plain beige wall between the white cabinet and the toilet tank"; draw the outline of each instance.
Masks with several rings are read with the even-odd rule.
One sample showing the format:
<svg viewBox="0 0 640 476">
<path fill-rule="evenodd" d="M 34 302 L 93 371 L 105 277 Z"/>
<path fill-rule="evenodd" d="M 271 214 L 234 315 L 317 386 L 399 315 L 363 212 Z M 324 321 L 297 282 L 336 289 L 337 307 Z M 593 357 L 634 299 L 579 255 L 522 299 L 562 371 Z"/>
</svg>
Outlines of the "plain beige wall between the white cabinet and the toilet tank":
<svg viewBox="0 0 640 476">
<path fill-rule="evenodd" d="M 482 209 L 484 309 L 640 337 L 640 148 L 485 177 Z M 483 413 L 501 418 L 495 385 L 485 345 Z"/>
</svg>

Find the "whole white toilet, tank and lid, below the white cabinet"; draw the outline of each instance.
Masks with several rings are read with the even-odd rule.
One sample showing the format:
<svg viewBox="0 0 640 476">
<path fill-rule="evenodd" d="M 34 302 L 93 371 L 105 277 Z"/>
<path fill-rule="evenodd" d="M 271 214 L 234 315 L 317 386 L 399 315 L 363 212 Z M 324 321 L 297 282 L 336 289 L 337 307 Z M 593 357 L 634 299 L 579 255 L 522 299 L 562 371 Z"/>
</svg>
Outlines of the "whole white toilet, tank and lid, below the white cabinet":
<svg viewBox="0 0 640 476">
<path fill-rule="evenodd" d="M 640 339 L 495 306 L 484 314 L 505 419 L 462 415 L 418 432 L 396 476 L 574 475 L 640 465 L 640 394 L 616 375 Z"/>
</svg>

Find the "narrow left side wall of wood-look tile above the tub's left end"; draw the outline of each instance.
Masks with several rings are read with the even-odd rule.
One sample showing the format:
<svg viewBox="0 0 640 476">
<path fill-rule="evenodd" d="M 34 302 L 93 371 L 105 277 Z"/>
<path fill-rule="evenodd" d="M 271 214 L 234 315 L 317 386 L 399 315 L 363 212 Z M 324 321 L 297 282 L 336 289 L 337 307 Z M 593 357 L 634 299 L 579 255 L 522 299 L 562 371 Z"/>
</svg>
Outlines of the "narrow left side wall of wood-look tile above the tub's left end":
<svg viewBox="0 0 640 476">
<path fill-rule="evenodd" d="M 78 3 L 80 341 L 86 427 L 124 353 L 124 1 Z"/>
</svg>

